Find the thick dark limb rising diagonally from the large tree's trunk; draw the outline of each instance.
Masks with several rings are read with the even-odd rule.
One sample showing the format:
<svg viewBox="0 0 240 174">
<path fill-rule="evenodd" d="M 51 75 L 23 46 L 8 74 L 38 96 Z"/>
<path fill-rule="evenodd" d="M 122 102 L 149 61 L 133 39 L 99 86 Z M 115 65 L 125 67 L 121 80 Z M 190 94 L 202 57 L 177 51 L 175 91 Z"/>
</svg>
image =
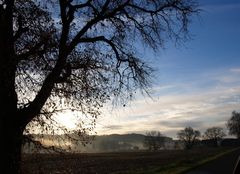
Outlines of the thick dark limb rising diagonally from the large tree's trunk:
<svg viewBox="0 0 240 174">
<path fill-rule="evenodd" d="M 55 83 L 59 81 L 66 80 L 68 76 L 70 76 L 71 71 L 67 70 L 63 76 L 61 76 L 61 72 L 66 64 L 66 59 L 71 50 L 67 46 L 68 34 L 70 29 L 70 23 L 73 20 L 74 9 L 69 6 L 69 11 L 66 12 L 68 7 L 68 3 L 65 0 L 60 0 L 60 11 L 61 11 L 61 19 L 62 19 L 62 33 L 59 44 L 59 55 L 57 59 L 57 63 L 53 68 L 52 72 L 48 74 L 46 79 L 44 80 L 41 89 L 36 95 L 35 99 L 30 102 L 27 108 L 23 108 L 20 110 L 23 115 L 24 124 L 29 123 L 36 115 L 38 115 L 47 101 L 48 97 L 51 95 L 52 89 L 54 88 Z"/>
</svg>

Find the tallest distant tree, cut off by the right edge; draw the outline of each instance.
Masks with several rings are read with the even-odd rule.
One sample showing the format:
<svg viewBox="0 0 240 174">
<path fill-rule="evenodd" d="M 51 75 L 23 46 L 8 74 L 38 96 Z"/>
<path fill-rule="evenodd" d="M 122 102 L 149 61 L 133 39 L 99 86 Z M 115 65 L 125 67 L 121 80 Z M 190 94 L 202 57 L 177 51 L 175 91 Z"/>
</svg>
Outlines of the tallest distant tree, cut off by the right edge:
<svg viewBox="0 0 240 174">
<path fill-rule="evenodd" d="M 240 112 L 232 112 L 232 116 L 227 122 L 227 128 L 230 135 L 235 135 L 240 139 Z"/>
</svg>

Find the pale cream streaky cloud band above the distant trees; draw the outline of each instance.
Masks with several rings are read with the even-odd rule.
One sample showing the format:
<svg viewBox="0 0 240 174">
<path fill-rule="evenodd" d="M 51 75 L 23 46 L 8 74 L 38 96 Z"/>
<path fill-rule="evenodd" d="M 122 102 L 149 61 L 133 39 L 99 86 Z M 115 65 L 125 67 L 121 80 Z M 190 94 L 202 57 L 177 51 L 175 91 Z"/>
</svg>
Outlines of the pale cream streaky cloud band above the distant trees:
<svg viewBox="0 0 240 174">
<path fill-rule="evenodd" d="M 145 133 L 158 130 L 176 138 L 177 131 L 186 126 L 202 133 L 212 126 L 226 128 L 231 112 L 237 110 L 240 103 L 240 79 L 234 74 L 236 70 L 219 70 L 199 74 L 194 83 L 156 86 L 153 91 L 157 95 L 153 99 L 139 97 L 127 107 L 106 113 L 98 120 L 105 125 L 99 127 L 98 132 Z M 233 82 L 222 80 L 230 77 Z M 180 92 L 166 91 L 173 88 Z"/>
</svg>

